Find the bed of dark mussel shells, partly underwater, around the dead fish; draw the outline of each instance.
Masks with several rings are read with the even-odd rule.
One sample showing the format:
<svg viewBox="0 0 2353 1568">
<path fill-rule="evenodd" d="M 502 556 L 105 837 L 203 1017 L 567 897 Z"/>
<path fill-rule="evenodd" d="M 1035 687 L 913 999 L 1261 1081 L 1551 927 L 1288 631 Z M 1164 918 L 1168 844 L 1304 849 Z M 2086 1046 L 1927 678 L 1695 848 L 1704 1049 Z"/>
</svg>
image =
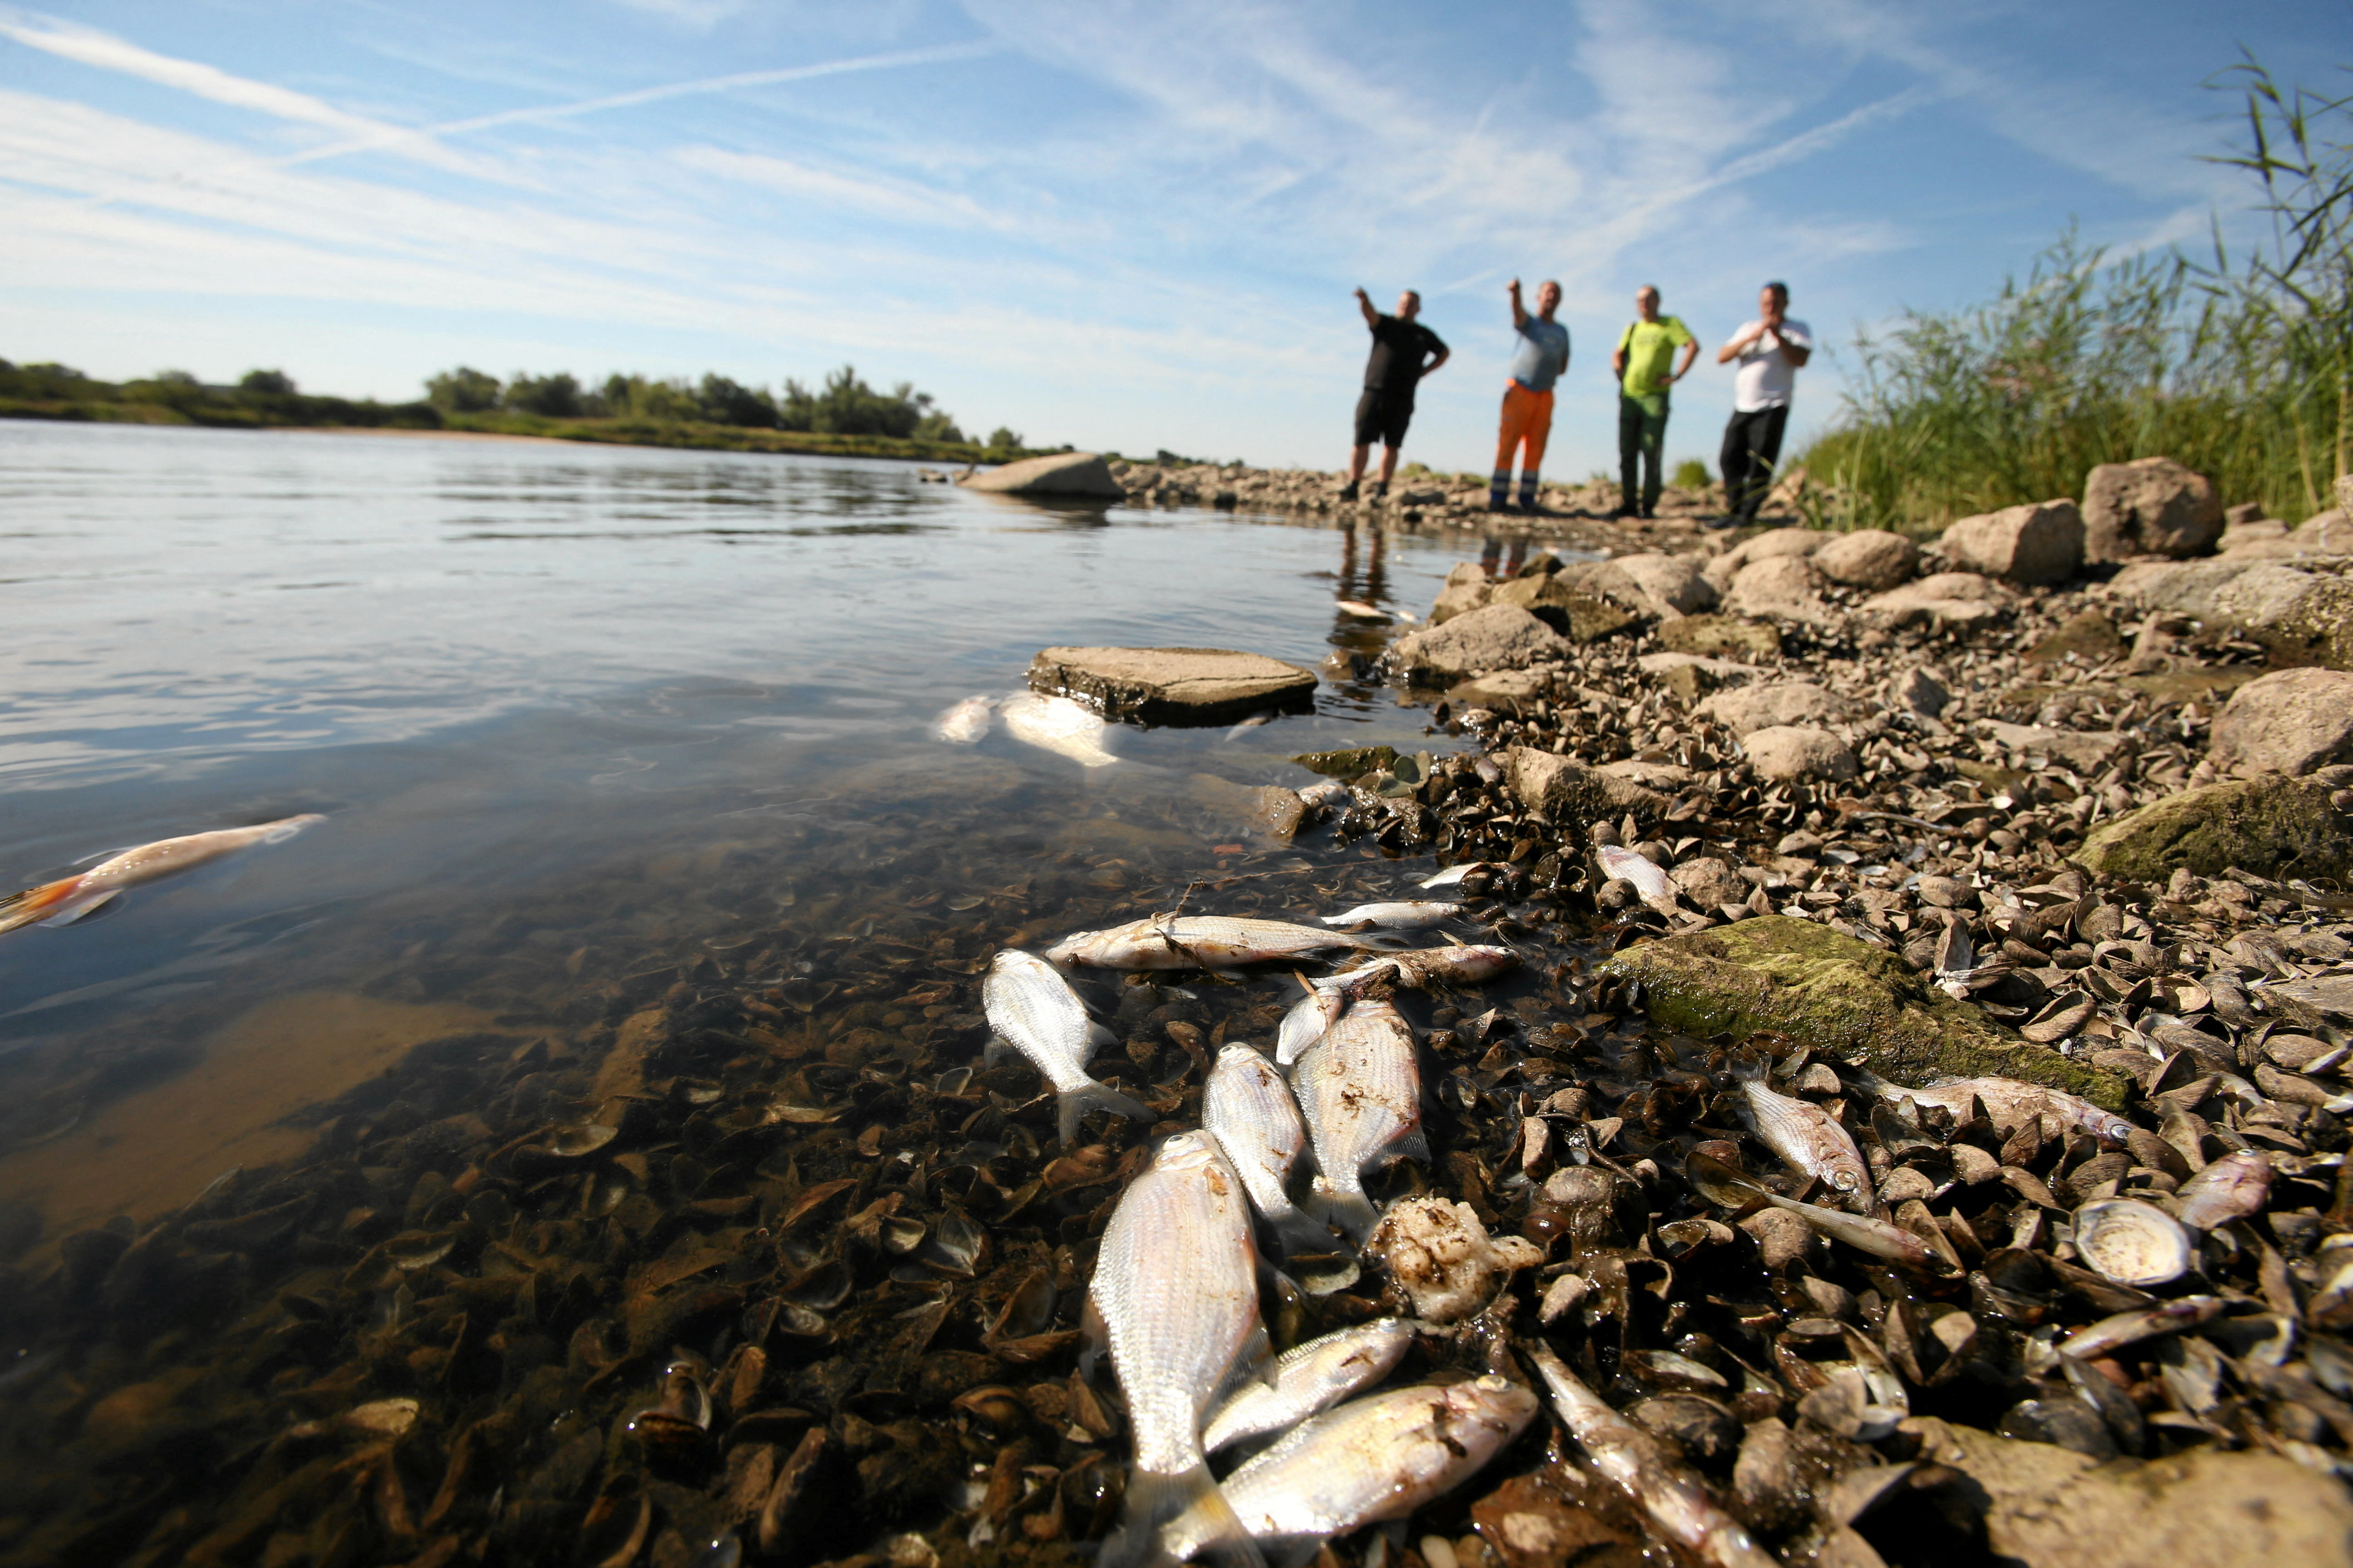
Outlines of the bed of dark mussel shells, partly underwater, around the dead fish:
<svg viewBox="0 0 2353 1568">
<path fill-rule="evenodd" d="M 1461 884 L 1459 933 L 1527 964 L 1400 997 L 1433 1159 L 1377 1197 L 1442 1194 L 1544 1258 L 1395 1378 L 1525 1378 L 1518 1349 L 1541 1340 L 1788 1561 L 1974 1561 L 1965 1488 L 1904 1465 L 1922 1415 L 2097 1458 L 2228 1448 L 2339 1472 L 2346 929 L 2287 886 L 2064 867 L 2089 820 L 2188 776 L 2202 717 L 2141 715 L 2146 743 L 2094 776 L 1988 752 L 1955 717 L 1995 710 L 2033 632 L 2021 611 L 1991 644 L 1913 649 L 1960 712 L 1875 710 L 1868 773 L 1838 790 L 1751 778 L 1631 644 L 1586 651 L 1555 703 L 1473 738 L 1689 769 L 1659 820 L 1544 820 L 1492 755 L 1461 752 L 1400 759 L 1297 846 L 1214 865 L 1040 842 L 976 879 L 953 870 L 955 823 L 908 816 L 831 865 L 793 846 L 793 877 L 840 896 L 776 912 L 781 851 L 732 856 L 704 877 L 746 912 L 729 936 L 529 971 L 529 994 L 485 999 L 544 1034 L 419 1048 L 327 1107 L 306 1161 L 228 1173 L 146 1227 L 12 1239 L 0 1563 L 1085 1556 L 1125 1460 L 1113 1380 L 1078 1375 L 1096 1237 L 1153 1138 L 1198 1124 L 1217 1048 L 1271 1041 L 1297 985 L 1080 976 L 1120 1039 L 1096 1072 L 1162 1119 L 1094 1119 L 1056 1147 L 1038 1074 L 981 1065 L 981 971 L 1179 898 L 1306 919 L 1471 858 L 1492 870 Z M 1854 654 L 1788 658 L 1864 696 L 1889 665 Z M 1605 844 L 1671 867 L 1680 903 L 1605 879 Z M 1906 1112 L 1802 1041 L 1652 1032 L 1640 997 L 1588 978 L 1645 933 L 1765 910 L 1901 950 L 2127 1072 L 2134 1131 Z M 1800 1192 L 1741 1131 L 1734 1044 L 1842 1114 L 1932 1267 L 1687 1187 L 1701 1152 Z M 1353 1286 L 1266 1298 L 1278 1347 L 1407 1309 L 1369 1262 Z M 1551 1420 L 1405 1528 L 1327 1554 L 1685 1561 Z"/>
</svg>

